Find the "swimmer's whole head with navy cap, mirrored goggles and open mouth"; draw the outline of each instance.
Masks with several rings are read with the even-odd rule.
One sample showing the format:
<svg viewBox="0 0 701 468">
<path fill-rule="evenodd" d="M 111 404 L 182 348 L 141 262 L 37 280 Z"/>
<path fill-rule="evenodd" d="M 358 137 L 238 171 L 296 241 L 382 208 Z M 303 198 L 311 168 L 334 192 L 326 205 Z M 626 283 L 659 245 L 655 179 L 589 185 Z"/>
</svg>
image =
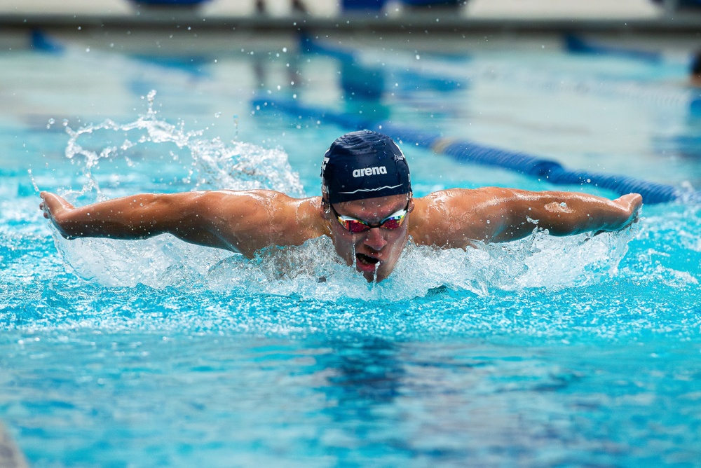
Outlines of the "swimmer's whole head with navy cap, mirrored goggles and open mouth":
<svg viewBox="0 0 701 468">
<path fill-rule="evenodd" d="M 409 240 L 409 165 L 387 135 L 362 130 L 331 145 L 321 167 L 322 216 L 336 253 L 367 281 L 382 281 Z"/>
</svg>

